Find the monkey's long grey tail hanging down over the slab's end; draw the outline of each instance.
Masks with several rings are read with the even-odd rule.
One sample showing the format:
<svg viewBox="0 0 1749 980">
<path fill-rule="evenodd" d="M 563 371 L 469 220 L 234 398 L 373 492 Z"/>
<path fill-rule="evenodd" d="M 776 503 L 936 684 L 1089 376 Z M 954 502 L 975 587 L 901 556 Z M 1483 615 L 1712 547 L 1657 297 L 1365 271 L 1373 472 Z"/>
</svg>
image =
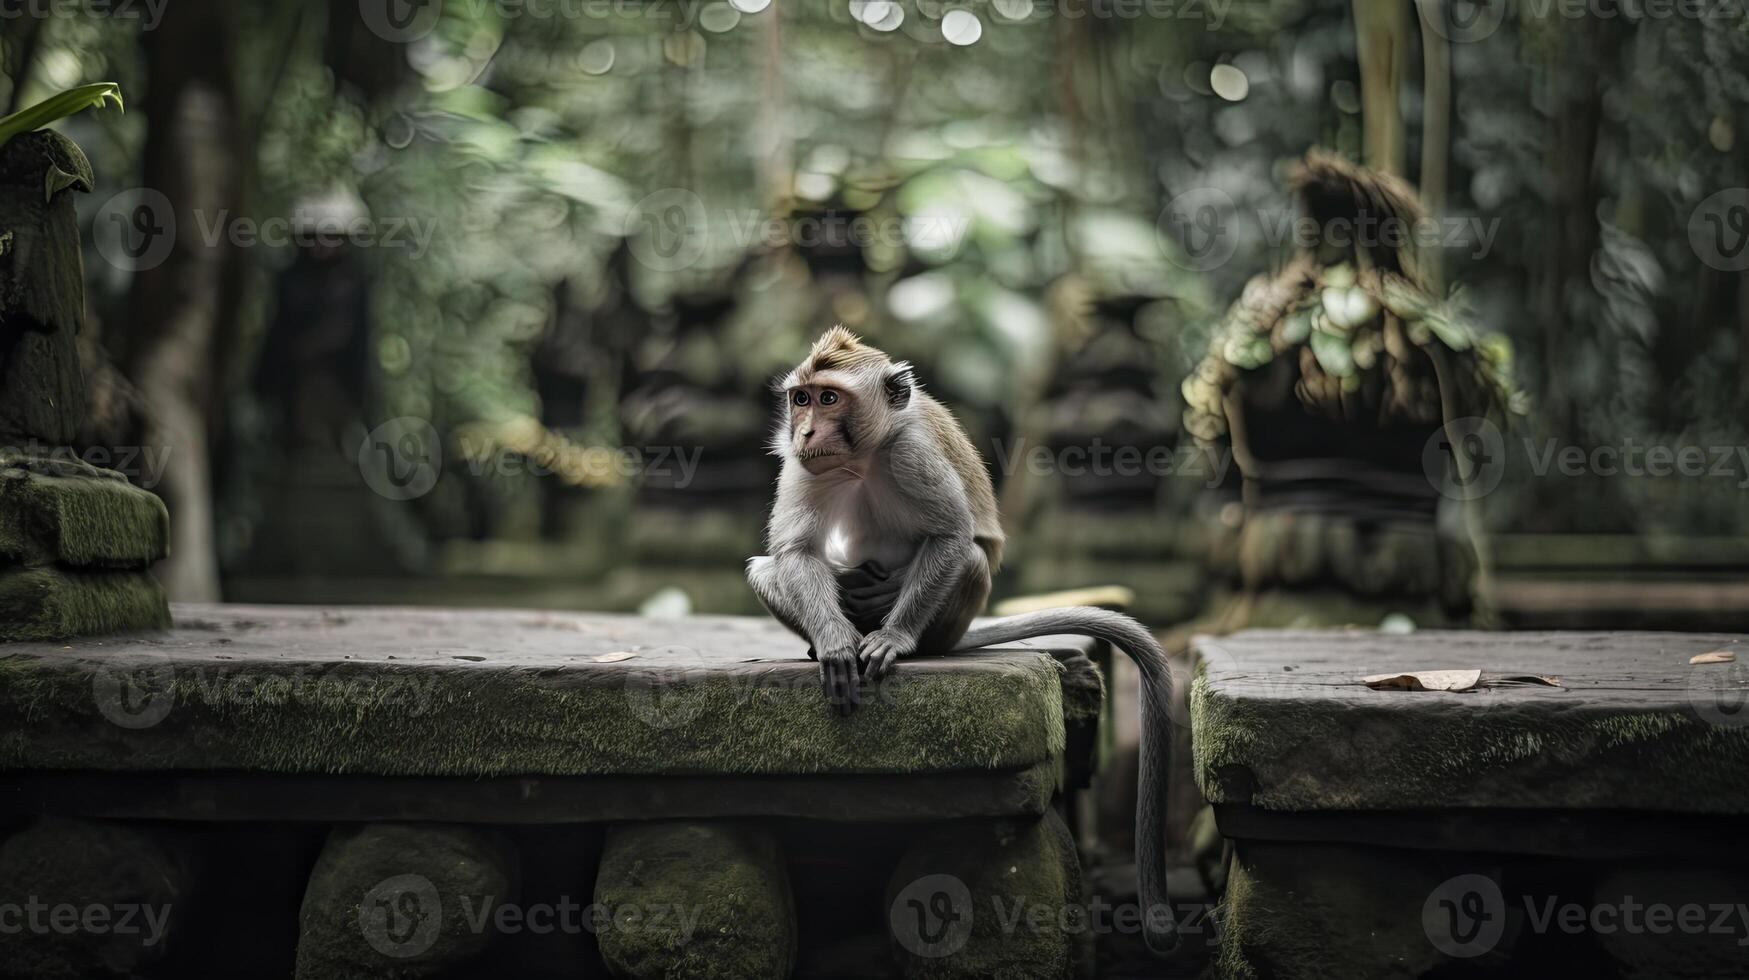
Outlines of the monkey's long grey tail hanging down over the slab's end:
<svg viewBox="0 0 1749 980">
<path fill-rule="evenodd" d="M 1135 662 L 1142 672 L 1142 760 L 1140 788 L 1135 798 L 1135 878 L 1142 898 L 1142 934 L 1156 954 L 1177 947 L 1172 905 L 1167 901 L 1165 810 L 1167 760 L 1172 747 L 1172 672 L 1167 651 L 1135 620 L 1091 606 L 1044 609 L 1021 616 L 1004 616 L 972 626 L 953 649 L 1081 634 L 1105 640 Z"/>
</svg>

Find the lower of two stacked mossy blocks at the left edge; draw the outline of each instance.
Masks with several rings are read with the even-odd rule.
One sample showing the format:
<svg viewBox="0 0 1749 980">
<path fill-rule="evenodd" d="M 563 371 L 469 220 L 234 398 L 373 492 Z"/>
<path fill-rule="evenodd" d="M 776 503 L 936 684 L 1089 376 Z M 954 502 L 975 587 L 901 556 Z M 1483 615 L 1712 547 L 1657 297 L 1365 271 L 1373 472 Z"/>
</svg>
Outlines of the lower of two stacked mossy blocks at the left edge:
<svg viewBox="0 0 1749 980">
<path fill-rule="evenodd" d="M 0 570 L 0 640 L 166 628 L 164 590 L 147 572 Z"/>
</svg>

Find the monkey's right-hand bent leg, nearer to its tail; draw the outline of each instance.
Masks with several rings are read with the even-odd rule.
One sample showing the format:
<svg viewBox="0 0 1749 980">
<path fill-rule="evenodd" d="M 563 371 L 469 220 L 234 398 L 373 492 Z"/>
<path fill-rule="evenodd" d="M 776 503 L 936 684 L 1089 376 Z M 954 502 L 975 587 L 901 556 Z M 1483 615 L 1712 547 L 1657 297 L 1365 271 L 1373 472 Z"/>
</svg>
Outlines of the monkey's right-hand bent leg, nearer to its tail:
<svg viewBox="0 0 1749 980">
<path fill-rule="evenodd" d="M 901 656 L 911 656 L 925 634 L 953 639 L 965 632 L 990 597 L 990 562 L 969 537 L 932 537 L 911 558 L 899 602 L 880 630 L 862 637 L 864 676 L 885 677 Z M 957 632 L 955 632 L 957 630 Z M 930 635 L 929 639 L 936 639 Z M 951 642 L 941 648 L 948 649 Z"/>
</svg>

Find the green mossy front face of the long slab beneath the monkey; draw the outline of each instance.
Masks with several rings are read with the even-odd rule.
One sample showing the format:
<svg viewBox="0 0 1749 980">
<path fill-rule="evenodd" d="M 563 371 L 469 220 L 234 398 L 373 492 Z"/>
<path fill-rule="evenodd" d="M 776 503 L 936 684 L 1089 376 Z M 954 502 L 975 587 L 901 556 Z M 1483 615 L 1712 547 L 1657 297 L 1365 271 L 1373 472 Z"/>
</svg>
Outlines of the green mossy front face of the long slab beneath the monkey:
<svg viewBox="0 0 1749 980">
<path fill-rule="evenodd" d="M 226 653 L 236 651 L 229 639 L 182 630 L 128 656 L 103 644 L 0 658 L 0 716 L 30 719 L 0 732 L 0 766 L 908 774 L 1020 770 L 1063 751 L 1058 667 L 1042 653 L 1000 654 L 999 668 L 985 658 L 978 670 L 913 672 L 838 718 L 808 662 L 757 677 L 675 677 L 553 662 L 299 662 L 296 646 L 245 658 Z M 122 681 L 164 698 L 168 712 L 119 728 L 93 690 Z"/>
</svg>

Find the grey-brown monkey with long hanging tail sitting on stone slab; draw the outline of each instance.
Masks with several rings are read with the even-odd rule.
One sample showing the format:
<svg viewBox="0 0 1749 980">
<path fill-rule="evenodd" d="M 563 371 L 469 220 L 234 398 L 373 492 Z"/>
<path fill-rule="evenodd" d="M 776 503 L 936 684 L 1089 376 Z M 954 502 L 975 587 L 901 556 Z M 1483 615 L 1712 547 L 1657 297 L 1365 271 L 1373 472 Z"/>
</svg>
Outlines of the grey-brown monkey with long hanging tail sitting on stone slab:
<svg viewBox="0 0 1749 980">
<path fill-rule="evenodd" d="M 904 360 L 840 327 L 773 383 L 782 457 L 766 550 L 747 581 L 778 623 L 808 640 L 827 702 L 850 714 L 861 682 L 918 653 L 958 653 L 1042 635 L 1107 640 L 1142 676 L 1137 884 L 1144 936 L 1177 945 L 1163 854 L 1172 677 L 1135 620 L 1076 606 L 972 628 L 1002 562 L 1004 534 L 983 457 Z"/>
</svg>

